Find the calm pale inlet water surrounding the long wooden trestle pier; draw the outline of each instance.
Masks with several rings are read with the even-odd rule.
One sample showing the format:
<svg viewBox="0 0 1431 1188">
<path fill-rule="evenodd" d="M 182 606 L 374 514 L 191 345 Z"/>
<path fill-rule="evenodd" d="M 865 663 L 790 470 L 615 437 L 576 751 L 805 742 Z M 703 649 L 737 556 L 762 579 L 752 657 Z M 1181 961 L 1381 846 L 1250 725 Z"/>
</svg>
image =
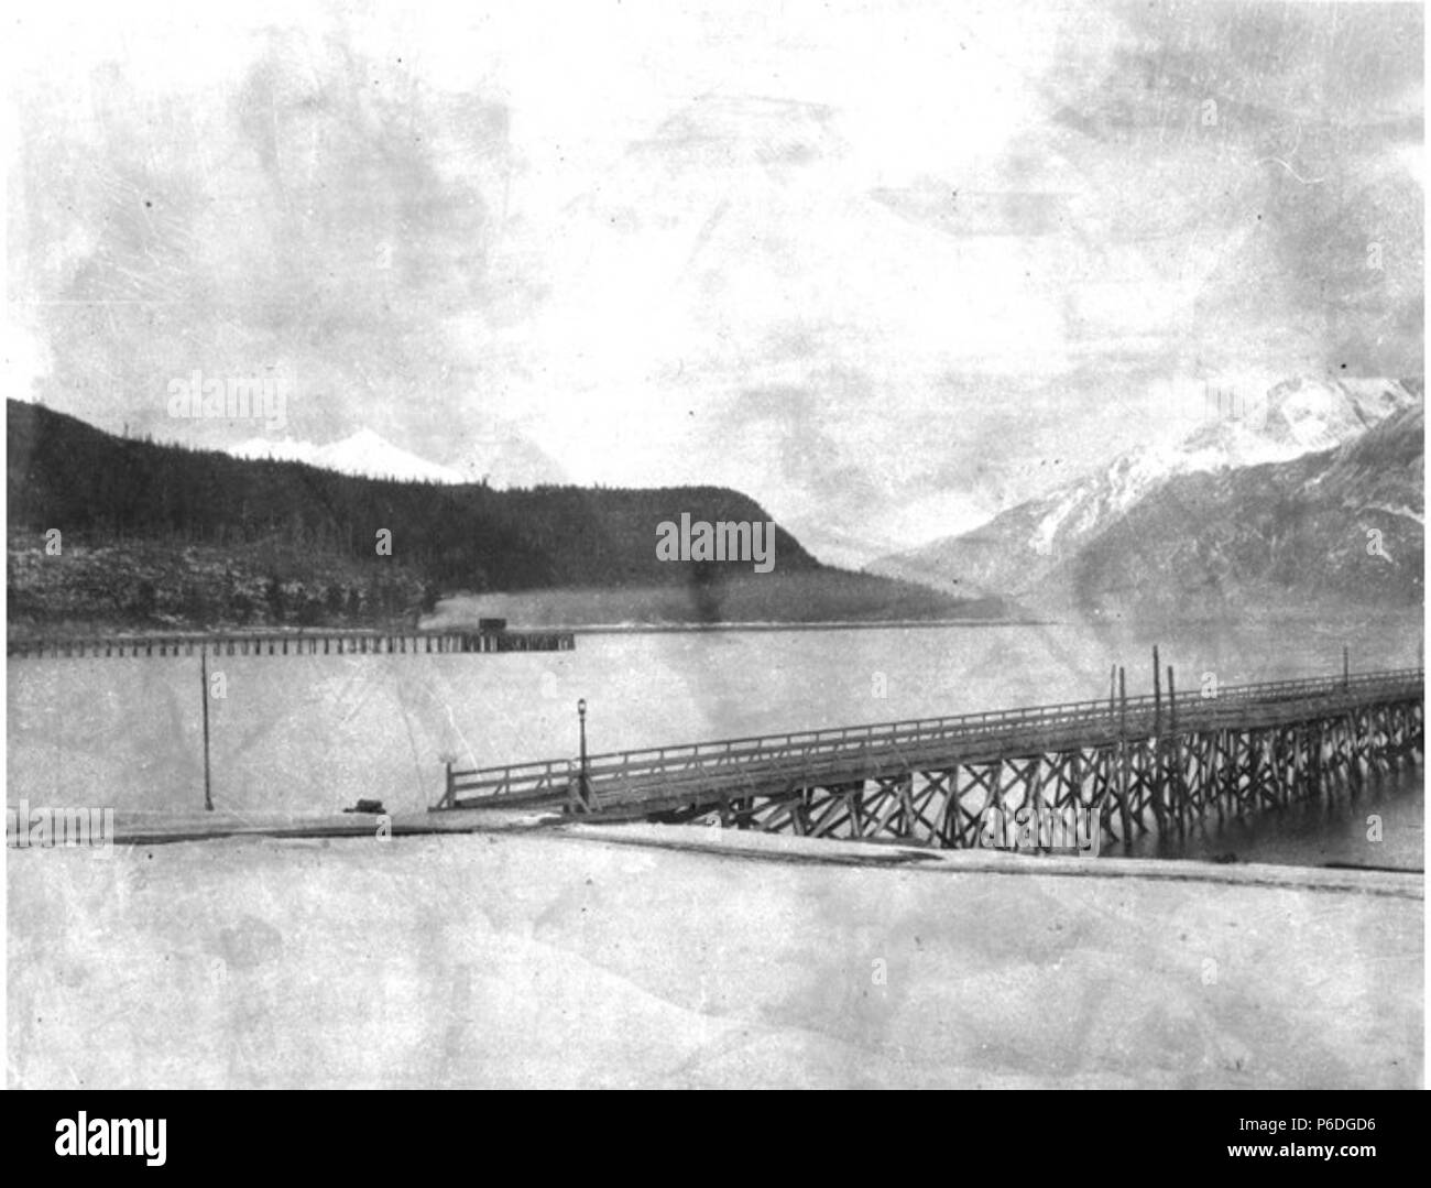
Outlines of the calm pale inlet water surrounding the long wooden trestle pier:
<svg viewBox="0 0 1431 1188">
<path fill-rule="evenodd" d="M 504 656 L 223 657 L 210 664 L 225 686 L 210 700 L 213 797 L 239 812 L 332 812 L 361 796 L 421 809 L 441 792 L 444 757 L 574 754 L 580 697 L 601 751 L 1106 697 L 1113 663 L 1128 667 L 1129 693 L 1143 693 L 1152 641 L 980 625 L 582 634 L 575 651 Z M 1226 684 L 1334 673 L 1342 641 L 1305 625 L 1159 633 L 1181 690 L 1206 674 Z M 1415 628 L 1352 644 L 1359 670 L 1418 663 Z M 9 663 L 9 800 L 202 807 L 199 688 L 197 657 Z M 1395 829 L 1384 823 L 1371 865 L 1420 867 L 1420 773 L 1377 794 Z M 1367 865 L 1357 837 L 1368 803 L 1339 823 L 1259 823 L 1185 850 Z"/>
</svg>

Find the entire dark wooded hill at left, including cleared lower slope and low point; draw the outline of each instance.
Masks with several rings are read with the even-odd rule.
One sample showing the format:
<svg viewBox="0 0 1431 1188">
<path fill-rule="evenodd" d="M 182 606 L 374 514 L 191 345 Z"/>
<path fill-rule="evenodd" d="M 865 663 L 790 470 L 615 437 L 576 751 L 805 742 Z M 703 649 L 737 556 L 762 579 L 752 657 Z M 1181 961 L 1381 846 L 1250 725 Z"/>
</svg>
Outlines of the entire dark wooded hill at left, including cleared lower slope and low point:
<svg viewBox="0 0 1431 1188">
<path fill-rule="evenodd" d="M 499 491 L 356 478 L 116 438 L 16 401 L 6 445 L 13 624 L 313 625 L 411 620 L 459 591 L 670 587 L 687 587 L 693 620 L 714 621 L 720 591 L 756 580 L 750 561 L 661 561 L 657 525 L 683 512 L 771 520 L 717 487 Z M 59 554 L 44 550 L 49 530 L 60 531 Z M 768 585 L 754 603 L 763 617 L 969 613 L 933 591 L 820 565 L 783 528 L 774 541 L 774 573 L 757 575 Z M 827 574 L 829 597 L 813 597 L 819 581 L 790 584 L 800 574 Z"/>
</svg>

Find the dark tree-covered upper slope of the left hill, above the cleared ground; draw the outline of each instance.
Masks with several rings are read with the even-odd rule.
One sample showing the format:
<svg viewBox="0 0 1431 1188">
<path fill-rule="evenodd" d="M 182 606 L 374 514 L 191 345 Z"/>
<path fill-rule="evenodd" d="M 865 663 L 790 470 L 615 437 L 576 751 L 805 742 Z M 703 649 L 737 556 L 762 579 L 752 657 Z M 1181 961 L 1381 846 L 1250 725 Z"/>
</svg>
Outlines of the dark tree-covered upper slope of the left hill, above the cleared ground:
<svg viewBox="0 0 1431 1188">
<path fill-rule="evenodd" d="M 771 520 L 746 495 L 714 487 L 494 491 L 368 479 L 116 438 L 13 401 L 6 429 L 11 527 L 218 544 L 282 537 L 358 558 L 375 555 L 386 530 L 394 561 L 475 590 L 678 583 L 688 565 L 657 558 L 658 522 L 683 511 Z M 776 555 L 781 570 L 819 568 L 778 527 Z"/>
</svg>

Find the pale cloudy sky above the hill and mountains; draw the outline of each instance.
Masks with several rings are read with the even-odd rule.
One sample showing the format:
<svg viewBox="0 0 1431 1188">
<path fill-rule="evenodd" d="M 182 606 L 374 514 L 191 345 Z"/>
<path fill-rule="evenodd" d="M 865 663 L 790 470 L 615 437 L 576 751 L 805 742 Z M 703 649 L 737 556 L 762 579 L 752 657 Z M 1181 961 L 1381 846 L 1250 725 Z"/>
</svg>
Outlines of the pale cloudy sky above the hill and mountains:
<svg viewBox="0 0 1431 1188">
<path fill-rule="evenodd" d="M 1208 379 L 1422 369 L 1420 6 L 29 9 L 7 394 L 109 429 L 280 375 L 295 438 L 863 563 Z"/>
</svg>

